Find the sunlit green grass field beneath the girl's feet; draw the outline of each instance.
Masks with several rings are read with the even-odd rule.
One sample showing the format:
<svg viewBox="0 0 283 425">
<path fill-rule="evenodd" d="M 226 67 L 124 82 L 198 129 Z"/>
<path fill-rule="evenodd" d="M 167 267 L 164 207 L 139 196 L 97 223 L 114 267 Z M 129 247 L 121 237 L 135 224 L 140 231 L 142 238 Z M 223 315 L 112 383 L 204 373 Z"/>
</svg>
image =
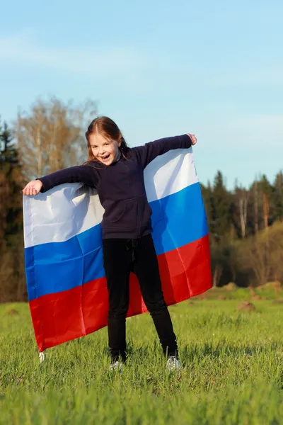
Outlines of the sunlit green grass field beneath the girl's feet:
<svg viewBox="0 0 283 425">
<path fill-rule="evenodd" d="M 212 290 L 171 306 L 181 374 L 149 314 L 127 319 L 124 373 L 109 373 L 107 329 L 50 348 L 39 363 L 28 305 L 0 306 L 0 424 L 283 424 L 283 304 Z"/>
</svg>

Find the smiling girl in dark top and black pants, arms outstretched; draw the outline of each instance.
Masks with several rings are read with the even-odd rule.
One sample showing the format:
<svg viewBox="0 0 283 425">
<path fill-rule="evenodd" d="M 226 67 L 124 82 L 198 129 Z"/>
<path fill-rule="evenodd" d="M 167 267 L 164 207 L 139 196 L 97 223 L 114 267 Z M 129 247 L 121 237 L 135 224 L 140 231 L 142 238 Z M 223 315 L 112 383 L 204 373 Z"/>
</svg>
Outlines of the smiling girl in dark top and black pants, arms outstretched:
<svg viewBox="0 0 283 425">
<path fill-rule="evenodd" d="M 127 147 L 110 118 L 91 122 L 86 132 L 86 164 L 56 171 L 30 181 L 23 193 L 35 196 L 62 183 L 82 182 L 96 188 L 105 209 L 103 266 L 109 294 L 108 341 L 110 370 L 122 370 L 126 361 L 126 315 L 129 307 L 129 273 L 136 274 L 167 357 L 167 368 L 181 368 L 171 317 L 164 301 L 154 242 L 151 208 L 146 199 L 144 169 L 158 155 L 195 145 L 194 135 L 166 137 L 144 146 Z"/>
</svg>

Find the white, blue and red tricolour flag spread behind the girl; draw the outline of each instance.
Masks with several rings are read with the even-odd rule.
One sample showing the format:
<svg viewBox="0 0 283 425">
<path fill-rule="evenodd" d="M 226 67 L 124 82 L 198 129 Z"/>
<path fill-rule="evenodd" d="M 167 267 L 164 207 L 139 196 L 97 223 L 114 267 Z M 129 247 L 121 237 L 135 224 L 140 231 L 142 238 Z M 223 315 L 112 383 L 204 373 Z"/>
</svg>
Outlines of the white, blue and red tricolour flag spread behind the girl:
<svg viewBox="0 0 283 425">
<path fill-rule="evenodd" d="M 144 170 L 153 239 L 167 305 L 212 287 L 207 218 L 190 149 L 175 149 Z M 95 189 L 68 183 L 23 196 L 25 273 L 35 338 L 46 348 L 108 323 L 103 207 Z M 146 312 L 130 276 L 127 317 Z"/>
</svg>

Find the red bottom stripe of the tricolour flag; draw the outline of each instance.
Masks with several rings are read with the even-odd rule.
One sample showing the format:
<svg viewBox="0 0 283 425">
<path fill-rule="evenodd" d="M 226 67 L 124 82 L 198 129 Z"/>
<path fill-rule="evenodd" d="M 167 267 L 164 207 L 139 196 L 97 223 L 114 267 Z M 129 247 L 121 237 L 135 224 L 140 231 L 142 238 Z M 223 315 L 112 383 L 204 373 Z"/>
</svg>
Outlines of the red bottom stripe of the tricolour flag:
<svg viewBox="0 0 283 425">
<path fill-rule="evenodd" d="M 208 235 L 158 256 L 167 305 L 187 300 L 212 287 Z M 30 312 L 40 352 L 79 338 L 107 325 L 108 290 L 105 278 L 30 301 Z M 130 277 L 127 317 L 147 312 L 137 278 Z"/>
</svg>

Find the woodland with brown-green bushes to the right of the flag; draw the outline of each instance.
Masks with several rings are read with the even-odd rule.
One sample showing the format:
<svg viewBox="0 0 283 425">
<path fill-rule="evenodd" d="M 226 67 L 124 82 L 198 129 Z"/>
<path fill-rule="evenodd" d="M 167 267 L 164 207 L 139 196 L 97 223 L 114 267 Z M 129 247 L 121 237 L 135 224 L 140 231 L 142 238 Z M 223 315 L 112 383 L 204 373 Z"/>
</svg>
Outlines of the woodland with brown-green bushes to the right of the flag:
<svg viewBox="0 0 283 425">
<path fill-rule="evenodd" d="M 214 286 L 283 281 L 283 173 L 270 183 L 258 176 L 249 188 L 229 191 L 221 171 L 202 185 Z"/>
</svg>

